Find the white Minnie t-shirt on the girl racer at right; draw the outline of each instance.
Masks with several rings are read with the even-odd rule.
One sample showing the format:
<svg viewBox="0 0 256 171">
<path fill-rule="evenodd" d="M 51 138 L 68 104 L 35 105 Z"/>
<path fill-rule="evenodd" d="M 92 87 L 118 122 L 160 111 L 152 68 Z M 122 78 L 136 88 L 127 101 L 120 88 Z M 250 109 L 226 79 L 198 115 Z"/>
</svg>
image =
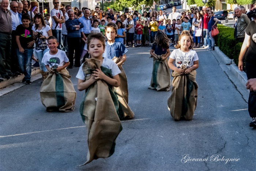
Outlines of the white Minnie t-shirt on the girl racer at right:
<svg viewBox="0 0 256 171">
<path fill-rule="evenodd" d="M 170 58 L 175 60 L 177 68 L 181 68 L 182 65 L 187 65 L 190 68 L 194 65 L 194 61 L 198 60 L 198 56 L 195 50 L 189 50 L 189 52 L 182 52 L 180 49 L 175 49 L 170 54 Z"/>
</svg>

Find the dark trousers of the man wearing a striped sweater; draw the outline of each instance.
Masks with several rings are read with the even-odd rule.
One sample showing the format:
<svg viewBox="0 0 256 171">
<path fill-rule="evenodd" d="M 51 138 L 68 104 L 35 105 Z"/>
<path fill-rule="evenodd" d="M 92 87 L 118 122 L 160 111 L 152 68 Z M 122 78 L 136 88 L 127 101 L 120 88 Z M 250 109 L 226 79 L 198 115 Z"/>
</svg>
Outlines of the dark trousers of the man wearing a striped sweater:
<svg viewBox="0 0 256 171">
<path fill-rule="evenodd" d="M 80 37 L 68 37 L 68 59 L 69 59 L 69 67 L 73 67 L 74 65 L 74 50 L 75 50 L 75 65 L 80 66 Z"/>
</svg>

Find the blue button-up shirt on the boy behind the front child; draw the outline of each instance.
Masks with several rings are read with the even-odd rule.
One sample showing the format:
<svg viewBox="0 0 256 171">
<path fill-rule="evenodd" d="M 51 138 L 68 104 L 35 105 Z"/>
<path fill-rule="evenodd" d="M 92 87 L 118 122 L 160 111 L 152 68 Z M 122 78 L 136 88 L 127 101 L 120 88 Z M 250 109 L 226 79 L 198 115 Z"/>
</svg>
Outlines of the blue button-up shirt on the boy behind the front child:
<svg viewBox="0 0 256 171">
<path fill-rule="evenodd" d="M 108 41 L 106 41 L 105 52 L 103 53 L 103 57 L 113 59 L 115 56 L 120 57 L 128 52 L 128 49 L 121 42 L 114 42 L 113 45 L 109 45 Z"/>
</svg>

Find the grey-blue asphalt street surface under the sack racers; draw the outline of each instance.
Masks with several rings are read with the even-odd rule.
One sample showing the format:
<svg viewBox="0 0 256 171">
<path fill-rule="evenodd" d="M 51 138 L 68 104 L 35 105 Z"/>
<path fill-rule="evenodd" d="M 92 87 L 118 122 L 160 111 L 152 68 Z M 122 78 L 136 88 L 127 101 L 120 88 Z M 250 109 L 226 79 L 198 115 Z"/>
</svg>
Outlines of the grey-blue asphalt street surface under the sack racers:
<svg viewBox="0 0 256 171">
<path fill-rule="evenodd" d="M 69 72 L 77 92 L 74 112 L 46 112 L 39 94 L 42 80 L 0 97 L 0 170 L 255 170 L 255 129 L 249 127 L 246 110 L 249 93 L 214 51 L 196 49 L 197 108 L 192 121 L 177 122 L 167 109 L 171 92 L 147 88 L 153 68 L 150 47 L 128 50 L 123 67 L 135 117 L 121 122 L 123 131 L 111 157 L 79 166 L 86 161 L 87 129 L 79 114 L 84 91 L 77 90 L 78 68 L 73 68 Z M 218 161 L 214 155 L 219 155 Z"/>
</svg>

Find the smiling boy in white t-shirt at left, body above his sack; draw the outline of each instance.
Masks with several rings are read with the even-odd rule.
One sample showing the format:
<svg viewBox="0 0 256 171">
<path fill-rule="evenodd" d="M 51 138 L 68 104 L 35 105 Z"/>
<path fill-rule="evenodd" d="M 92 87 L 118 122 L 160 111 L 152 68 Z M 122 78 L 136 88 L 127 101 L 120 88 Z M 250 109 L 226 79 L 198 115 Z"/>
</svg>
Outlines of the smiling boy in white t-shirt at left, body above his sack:
<svg viewBox="0 0 256 171">
<path fill-rule="evenodd" d="M 44 54 L 42 63 L 45 64 L 46 69 L 50 73 L 60 72 L 62 69 L 69 65 L 69 60 L 66 53 L 63 50 L 57 49 L 59 43 L 56 37 L 50 36 L 48 38 L 48 47 L 50 51 Z"/>
</svg>

